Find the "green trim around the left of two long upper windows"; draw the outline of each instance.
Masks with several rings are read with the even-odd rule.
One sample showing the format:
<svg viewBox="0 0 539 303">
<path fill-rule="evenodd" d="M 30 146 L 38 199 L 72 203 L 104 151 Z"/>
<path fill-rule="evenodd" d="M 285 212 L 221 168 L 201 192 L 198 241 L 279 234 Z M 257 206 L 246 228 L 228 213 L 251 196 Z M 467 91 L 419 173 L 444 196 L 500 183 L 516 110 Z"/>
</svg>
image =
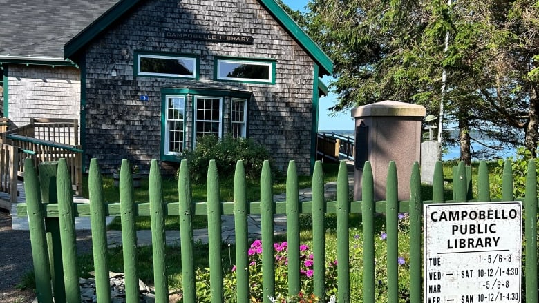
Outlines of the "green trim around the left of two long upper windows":
<svg viewBox="0 0 539 303">
<path fill-rule="evenodd" d="M 193 75 L 181 75 L 168 72 L 141 72 L 141 59 L 164 59 L 164 60 L 187 60 L 192 61 Z M 173 52 L 146 52 L 135 50 L 133 54 L 133 76 L 134 77 L 157 77 L 157 78 L 173 78 L 173 79 L 191 79 L 198 80 L 200 77 L 200 57 L 198 55 L 178 54 Z"/>
</svg>

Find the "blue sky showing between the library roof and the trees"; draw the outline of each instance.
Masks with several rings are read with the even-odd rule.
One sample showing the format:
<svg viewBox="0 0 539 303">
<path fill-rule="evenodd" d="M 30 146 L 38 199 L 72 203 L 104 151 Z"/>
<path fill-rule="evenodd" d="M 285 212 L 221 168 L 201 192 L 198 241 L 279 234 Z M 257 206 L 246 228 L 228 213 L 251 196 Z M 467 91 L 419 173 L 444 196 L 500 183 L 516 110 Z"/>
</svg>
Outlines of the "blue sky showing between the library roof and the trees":
<svg viewBox="0 0 539 303">
<path fill-rule="evenodd" d="M 283 2 L 290 6 L 293 10 L 305 10 L 308 0 L 283 0 Z M 328 77 L 323 79 L 323 82 L 326 85 L 330 84 Z M 350 116 L 350 110 L 346 112 L 339 113 L 336 117 L 330 117 L 329 110 L 333 104 L 335 104 L 336 95 L 334 95 L 331 90 L 328 96 L 322 97 L 320 99 L 320 112 L 319 112 L 319 130 L 353 130 L 354 129 L 354 120 Z"/>
</svg>

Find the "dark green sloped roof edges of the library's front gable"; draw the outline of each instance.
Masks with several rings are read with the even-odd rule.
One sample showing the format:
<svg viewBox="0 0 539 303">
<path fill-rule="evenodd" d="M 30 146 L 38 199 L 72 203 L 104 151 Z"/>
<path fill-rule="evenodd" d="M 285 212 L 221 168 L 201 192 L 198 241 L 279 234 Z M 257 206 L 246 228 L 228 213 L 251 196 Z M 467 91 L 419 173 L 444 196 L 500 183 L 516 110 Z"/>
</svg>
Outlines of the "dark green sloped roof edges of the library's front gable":
<svg viewBox="0 0 539 303">
<path fill-rule="evenodd" d="M 1 0 L 0 0 L 1 1 Z M 82 32 L 70 39 L 64 46 L 64 57 L 72 58 L 92 41 L 100 32 L 106 30 L 112 23 L 120 19 L 131 8 L 140 3 L 141 0 L 120 0 L 110 10 L 84 28 Z M 279 6 L 274 0 L 258 0 L 266 10 L 287 30 L 294 40 L 310 55 L 319 65 L 321 75 L 331 75 L 333 72 L 333 62 L 321 48 L 310 39 L 310 37 L 297 25 L 296 22 Z"/>
</svg>

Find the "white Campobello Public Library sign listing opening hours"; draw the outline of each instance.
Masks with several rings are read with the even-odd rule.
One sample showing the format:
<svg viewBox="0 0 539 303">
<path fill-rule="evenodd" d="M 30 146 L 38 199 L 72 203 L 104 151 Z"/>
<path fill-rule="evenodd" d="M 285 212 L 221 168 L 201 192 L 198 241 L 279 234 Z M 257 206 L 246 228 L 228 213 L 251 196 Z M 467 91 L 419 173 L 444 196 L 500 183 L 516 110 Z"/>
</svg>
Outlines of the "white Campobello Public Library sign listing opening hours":
<svg viewBox="0 0 539 303">
<path fill-rule="evenodd" d="M 424 204 L 424 303 L 520 303 L 520 202 Z"/>
</svg>

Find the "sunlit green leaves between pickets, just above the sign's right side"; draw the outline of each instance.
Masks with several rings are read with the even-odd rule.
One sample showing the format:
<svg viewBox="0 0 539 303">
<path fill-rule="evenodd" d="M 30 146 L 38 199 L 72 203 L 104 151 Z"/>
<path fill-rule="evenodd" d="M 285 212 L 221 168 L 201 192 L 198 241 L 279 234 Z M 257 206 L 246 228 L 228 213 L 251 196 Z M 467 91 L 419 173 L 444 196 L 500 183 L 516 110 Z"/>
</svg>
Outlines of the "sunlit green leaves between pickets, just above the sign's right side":
<svg viewBox="0 0 539 303">
<path fill-rule="evenodd" d="M 539 158 L 534 158 L 531 155 L 531 152 L 526 148 L 518 148 L 516 157 L 514 159 L 513 157 L 509 158 L 513 170 L 513 195 L 516 198 L 522 198 L 526 193 L 526 175 L 528 172 L 529 161 L 532 159 L 536 162 L 537 174 L 539 175 Z M 504 160 L 498 160 L 498 166 L 494 168 L 491 194 L 495 197 L 502 196 L 502 175 L 504 165 Z M 539 179 L 537 180 L 537 184 L 539 186 Z"/>
</svg>

